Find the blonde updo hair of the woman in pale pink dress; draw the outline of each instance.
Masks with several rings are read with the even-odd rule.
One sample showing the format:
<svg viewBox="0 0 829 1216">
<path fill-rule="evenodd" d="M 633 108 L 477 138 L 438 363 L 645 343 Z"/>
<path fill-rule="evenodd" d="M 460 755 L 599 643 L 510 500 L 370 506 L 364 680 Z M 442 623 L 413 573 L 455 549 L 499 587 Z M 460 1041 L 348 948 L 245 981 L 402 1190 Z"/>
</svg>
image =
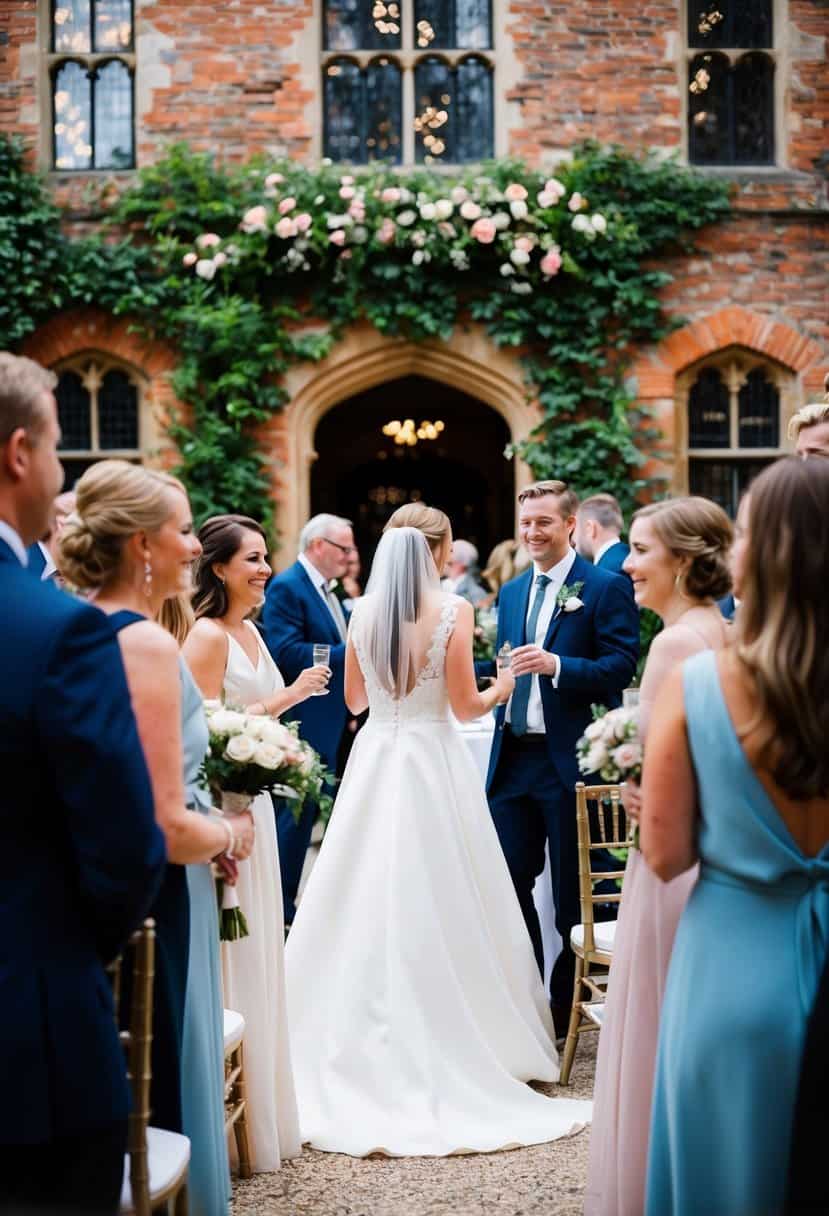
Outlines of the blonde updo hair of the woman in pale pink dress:
<svg viewBox="0 0 829 1216">
<path fill-rule="evenodd" d="M 675 557 L 688 558 L 688 568 L 679 578 L 683 596 L 688 599 L 721 599 L 728 595 L 728 553 L 734 530 L 722 507 L 709 499 L 670 499 L 642 507 L 633 516 L 636 519 L 648 519 Z"/>
</svg>

